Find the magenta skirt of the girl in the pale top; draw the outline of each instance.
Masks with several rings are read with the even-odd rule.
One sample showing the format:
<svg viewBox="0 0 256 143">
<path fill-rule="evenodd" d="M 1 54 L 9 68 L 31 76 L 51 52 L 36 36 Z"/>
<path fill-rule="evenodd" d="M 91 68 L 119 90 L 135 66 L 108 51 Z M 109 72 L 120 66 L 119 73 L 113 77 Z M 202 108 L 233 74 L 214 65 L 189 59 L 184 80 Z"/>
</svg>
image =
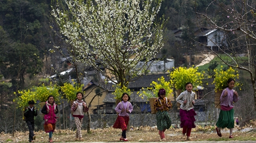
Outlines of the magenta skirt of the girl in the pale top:
<svg viewBox="0 0 256 143">
<path fill-rule="evenodd" d="M 180 127 L 183 128 L 184 126 L 187 126 L 187 128 L 195 128 L 196 125 L 194 125 L 194 121 L 196 119 L 194 116 L 197 115 L 196 112 L 194 112 L 194 109 L 191 109 L 190 111 L 186 111 L 184 109 L 180 109 Z"/>
</svg>

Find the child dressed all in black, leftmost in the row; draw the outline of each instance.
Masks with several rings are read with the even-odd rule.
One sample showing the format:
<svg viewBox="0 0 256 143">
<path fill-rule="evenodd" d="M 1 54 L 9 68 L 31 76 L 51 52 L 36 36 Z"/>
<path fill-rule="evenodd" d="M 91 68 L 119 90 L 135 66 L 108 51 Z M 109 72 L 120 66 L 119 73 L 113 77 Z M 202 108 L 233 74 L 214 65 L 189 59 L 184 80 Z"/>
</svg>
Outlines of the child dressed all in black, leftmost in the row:
<svg viewBox="0 0 256 143">
<path fill-rule="evenodd" d="M 28 107 L 26 107 L 26 111 L 24 113 L 24 116 L 26 117 L 26 123 L 28 125 L 28 130 L 29 130 L 29 135 L 28 135 L 29 142 L 34 142 L 35 140 L 34 117 L 38 115 L 38 112 L 36 111 L 34 104 L 35 104 L 34 100 L 28 101 Z"/>
</svg>

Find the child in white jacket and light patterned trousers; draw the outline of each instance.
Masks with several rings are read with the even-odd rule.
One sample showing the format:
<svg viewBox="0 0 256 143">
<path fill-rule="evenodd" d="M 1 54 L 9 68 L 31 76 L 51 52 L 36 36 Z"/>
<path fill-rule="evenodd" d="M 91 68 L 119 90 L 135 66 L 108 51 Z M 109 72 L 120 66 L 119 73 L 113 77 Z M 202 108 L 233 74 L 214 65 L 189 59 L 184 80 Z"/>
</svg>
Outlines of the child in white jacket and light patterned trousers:
<svg viewBox="0 0 256 143">
<path fill-rule="evenodd" d="M 83 101 L 83 93 L 76 93 L 76 100 L 72 103 L 71 112 L 73 112 L 72 116 L 74 116 L 76 123 L 76 140 L 84 140 L 82 138 L 82 122 L 83 122 L 83 114 L 88 112 L 88 107 L 86 106 L 86 101 Z"/>
</svg>

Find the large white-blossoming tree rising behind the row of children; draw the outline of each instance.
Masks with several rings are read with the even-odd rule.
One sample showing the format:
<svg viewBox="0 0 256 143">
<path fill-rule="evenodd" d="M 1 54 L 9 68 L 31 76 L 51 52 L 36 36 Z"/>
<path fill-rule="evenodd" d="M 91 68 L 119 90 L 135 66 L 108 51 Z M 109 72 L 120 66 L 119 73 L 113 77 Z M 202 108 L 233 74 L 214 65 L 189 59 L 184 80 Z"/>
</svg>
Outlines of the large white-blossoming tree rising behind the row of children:
<svg viewBox="0 0 256 143">
<path fill-rule="evenodd" d="M 163 47 L 166 22 L 157 19 L 161 2 L 65 0 L 52 5 L 52 15 L 78 62 L 127 87 Z"/>
</svg>

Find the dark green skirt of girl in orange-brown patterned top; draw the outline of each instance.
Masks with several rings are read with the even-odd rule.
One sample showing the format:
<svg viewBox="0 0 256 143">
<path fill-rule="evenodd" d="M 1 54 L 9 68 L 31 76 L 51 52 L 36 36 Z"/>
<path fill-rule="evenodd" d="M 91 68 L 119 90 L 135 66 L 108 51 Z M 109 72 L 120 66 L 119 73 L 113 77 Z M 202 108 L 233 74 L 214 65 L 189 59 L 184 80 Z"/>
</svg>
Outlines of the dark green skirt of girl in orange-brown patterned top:
<svg viewBox="0 0 256 143">
<path fill-rule="evenodd" d="M 157 129 L 163 131 L 164 129 L 169 129 L 172 126 L 172 120 L 167 111 L 156 112 L 156 125 Z"/>
</svg>

